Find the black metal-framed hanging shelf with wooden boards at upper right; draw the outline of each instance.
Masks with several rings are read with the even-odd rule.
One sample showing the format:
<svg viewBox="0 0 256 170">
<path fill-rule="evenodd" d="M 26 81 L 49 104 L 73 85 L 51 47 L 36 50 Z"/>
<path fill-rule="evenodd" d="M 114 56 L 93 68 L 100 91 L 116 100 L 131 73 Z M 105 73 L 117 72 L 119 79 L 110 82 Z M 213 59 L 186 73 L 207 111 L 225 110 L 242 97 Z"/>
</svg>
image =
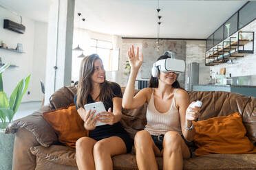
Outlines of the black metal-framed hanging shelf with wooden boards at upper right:
<svg viewBox="0 0 256 170">
<path fill-rule="evenodd" d="M 244 37 L 242 39 L 242 34 L 250 34 L 252 38 Z M 228 41 L 222 41 L 212 48 L 212 50 L 206 51 L 205 65 L 213 66 L 216 64 L 227 62 L 232 58 L 244 57 L 248 53 L 254 53 L 254 32 L 237 32 L 236 37 L 229 37 Z M 247 45 L 249 42 L 251 44 Z M 246 46 L 245 46 L 246 45 Z M 248 50 L 247 47 L 250 47 Z"/>
</svg>

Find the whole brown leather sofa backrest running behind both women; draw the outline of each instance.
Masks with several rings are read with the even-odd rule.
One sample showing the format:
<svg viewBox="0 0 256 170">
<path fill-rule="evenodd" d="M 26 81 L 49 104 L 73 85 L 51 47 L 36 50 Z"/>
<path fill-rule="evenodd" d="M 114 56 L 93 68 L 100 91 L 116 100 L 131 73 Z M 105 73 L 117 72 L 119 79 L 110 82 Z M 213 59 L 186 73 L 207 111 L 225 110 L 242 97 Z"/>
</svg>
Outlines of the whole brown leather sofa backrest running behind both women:
<svg viewBox="0 0 256 170">
<path fill-rule="evenodd" d="M 125 88 L 122 87 L 122 93 L 124 90 Z M 134 90 L 134 95 L 138 91 Z M 76 87 L 74 86 L 60 88 L 50 98 L 50 106 L 53 109 L 67 107 L 74 103 L 75 94 Z M 188 94 L 191 102 L 200 100 L 203 103 L 199 121 L 239 112 L 242 115 L 248 138 L 253 143 L 256 142 L 256 98 L 222 91 L 194 91 Z M 143 130 L 147 124 L 146 111 L 147 104 L 136 109 L 122 109 L 121 123 L 131 137 L 134 137 L 138 130 Z"/>
</svg>

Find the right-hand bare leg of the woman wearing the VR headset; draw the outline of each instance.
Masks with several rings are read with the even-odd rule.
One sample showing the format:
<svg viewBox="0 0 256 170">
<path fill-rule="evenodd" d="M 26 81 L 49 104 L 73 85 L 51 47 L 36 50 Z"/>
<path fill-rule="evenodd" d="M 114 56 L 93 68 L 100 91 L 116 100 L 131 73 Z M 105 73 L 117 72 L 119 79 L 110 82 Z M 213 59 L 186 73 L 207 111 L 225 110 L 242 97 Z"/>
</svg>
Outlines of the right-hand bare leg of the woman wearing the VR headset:
<svg viewBox="0 0 256 170">
<path fill-rule="evenodd" d="M 189 147 L 177 132 L 169 131 L 164 135 L 163 169 L 182 170 L 183 158 L 189 158 Z"/>
</svg>

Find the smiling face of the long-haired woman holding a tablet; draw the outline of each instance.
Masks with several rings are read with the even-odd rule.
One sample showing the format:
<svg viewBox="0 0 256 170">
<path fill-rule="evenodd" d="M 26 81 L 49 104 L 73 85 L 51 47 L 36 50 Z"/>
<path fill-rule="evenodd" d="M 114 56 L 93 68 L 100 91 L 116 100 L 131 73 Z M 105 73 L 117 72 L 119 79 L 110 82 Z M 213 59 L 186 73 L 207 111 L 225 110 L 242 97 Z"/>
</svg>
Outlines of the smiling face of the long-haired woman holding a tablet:
<svg viewBox="0 0 256 170">
<path fill-rule="evenodd" d="M 93 83 L 103 83 L 105 81 L 105 69 L 101 60 L 94 62 L 94 73 L 91 76 Z"/>
</svg>

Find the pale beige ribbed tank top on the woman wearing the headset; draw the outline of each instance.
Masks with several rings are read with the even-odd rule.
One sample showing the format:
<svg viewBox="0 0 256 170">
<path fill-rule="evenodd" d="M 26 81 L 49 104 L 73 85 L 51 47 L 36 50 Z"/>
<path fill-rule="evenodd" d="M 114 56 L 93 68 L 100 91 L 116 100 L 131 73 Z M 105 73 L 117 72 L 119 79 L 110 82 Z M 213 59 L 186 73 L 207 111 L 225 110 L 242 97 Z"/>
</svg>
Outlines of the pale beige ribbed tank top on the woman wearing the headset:
<svg viewBox="0 0 256 170">
<path fill-rule="evenodd" d="M 175 89 L 173 94 L 173 102 L 167 112 L 160 113 L 155 108 L 153 101 L 153 91 L 147 106 L 147 125 L 145 130 L 147 130 L 151 135 L 165 134 L 168 131 L 175 131 L 182 135 L 182 130 L 180 126 L 180 113 L 178 108 L 175 106 L 175 93 L 178 88 Z"/>
</svg>

